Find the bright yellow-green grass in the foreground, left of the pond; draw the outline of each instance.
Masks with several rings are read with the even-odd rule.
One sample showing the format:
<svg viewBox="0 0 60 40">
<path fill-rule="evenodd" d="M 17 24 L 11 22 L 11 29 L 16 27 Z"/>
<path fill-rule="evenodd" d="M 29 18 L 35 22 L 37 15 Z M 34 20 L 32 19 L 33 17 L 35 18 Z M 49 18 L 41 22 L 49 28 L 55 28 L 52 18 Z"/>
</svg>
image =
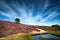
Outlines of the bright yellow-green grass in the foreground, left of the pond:
<svg viewBox="0 0 60 40">
<path fill-rule="evenodd" d="M 13 35 L 7 35 L 5 40 L 31 40 L 32 36 L 29 33 L 18 33 Z"/>
</svg>

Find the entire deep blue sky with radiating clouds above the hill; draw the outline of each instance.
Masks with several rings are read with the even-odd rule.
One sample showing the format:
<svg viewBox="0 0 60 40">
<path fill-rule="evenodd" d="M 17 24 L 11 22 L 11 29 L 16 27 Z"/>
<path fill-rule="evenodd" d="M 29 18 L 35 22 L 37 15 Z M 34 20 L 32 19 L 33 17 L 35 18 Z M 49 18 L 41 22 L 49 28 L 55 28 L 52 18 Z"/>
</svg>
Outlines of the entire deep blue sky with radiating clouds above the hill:
<svg viewBox="0 0 60 40">
<path fill-rule="evenodd" d="M 0 0 L 0 20 L 28 25 L 60 25 L 60 0 Z"/>
</svg>

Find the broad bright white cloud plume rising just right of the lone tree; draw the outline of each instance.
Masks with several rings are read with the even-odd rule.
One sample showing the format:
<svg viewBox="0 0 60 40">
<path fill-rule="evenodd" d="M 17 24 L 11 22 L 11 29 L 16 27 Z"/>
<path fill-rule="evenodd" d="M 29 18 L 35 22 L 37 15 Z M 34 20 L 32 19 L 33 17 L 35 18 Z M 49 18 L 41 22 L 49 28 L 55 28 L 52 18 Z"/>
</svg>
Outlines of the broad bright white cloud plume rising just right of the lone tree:
<svg viewBox="0 0 60 40">
<path fill-rule="evenodd" d="M 21 14 L 21 20 L 22 20 L 22 23 L 26 23 L 26 24 L 34 24 L 36 21 L 37 21 L 37 18 L 39 16 L 35 16 L 34 18 L 32 17 L 32 11 L 29 11 L 28 12 L 23 9 L 23 8 L 20 8 L 19 9 L 20 11 L 20 14 Z"/>
</svg>

